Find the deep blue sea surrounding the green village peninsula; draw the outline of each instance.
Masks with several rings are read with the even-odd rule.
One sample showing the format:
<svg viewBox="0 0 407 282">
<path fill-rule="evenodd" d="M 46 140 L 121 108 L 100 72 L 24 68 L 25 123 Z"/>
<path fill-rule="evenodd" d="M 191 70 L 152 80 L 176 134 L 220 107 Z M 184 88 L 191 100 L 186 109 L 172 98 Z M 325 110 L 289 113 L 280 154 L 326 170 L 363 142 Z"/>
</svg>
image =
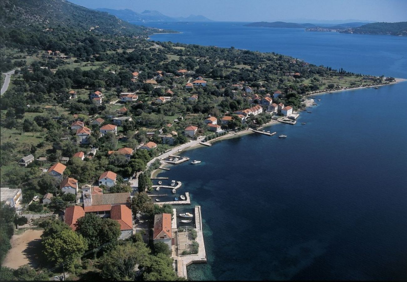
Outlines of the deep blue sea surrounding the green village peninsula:
<svg viewBox="0 0 407 282">
<path fill-rule="evenodd" d="M 182 32 L 155 41 L 407 78 L 407 37 L 244 24 L 144 23 Z M 317 99 L 296 125 L 265 128 L 285 139 L 226 139 L 180 153 L 202 163 L 160 173 L 201 205 L 208 263 L 190 265 L 189 279 L 407 280 L 407 83 Z"/>
</svg>

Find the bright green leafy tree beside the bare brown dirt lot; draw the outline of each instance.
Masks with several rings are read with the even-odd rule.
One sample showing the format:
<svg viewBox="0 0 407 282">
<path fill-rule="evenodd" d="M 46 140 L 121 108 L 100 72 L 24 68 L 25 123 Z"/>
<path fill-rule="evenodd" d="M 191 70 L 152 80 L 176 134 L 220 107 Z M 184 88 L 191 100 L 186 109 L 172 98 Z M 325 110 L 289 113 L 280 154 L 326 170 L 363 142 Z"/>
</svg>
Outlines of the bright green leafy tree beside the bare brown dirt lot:
<svg viewBox="0 0 407 282">
<path fill-rule="evenodd" d="M 65 266 L 69 271 L 74 271 L 88 249 L 85 238 L 70 228 L 43 239 L 41 243 L 48 262 L 56 265 L 67 262 Z"/>
</svg>

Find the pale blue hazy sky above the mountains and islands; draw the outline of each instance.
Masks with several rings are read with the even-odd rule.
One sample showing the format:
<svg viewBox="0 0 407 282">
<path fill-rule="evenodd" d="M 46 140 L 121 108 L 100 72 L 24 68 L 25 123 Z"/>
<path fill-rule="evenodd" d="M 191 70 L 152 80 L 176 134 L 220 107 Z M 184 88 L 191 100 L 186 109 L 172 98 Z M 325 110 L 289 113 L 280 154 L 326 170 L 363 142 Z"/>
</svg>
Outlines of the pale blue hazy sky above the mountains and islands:
<svg viewBox="0 0 407 282">
<path fill-rule="evenodd" d="M 69 0 L 96 9 L 157 10 L 170 17 L 204 15 L 215 21 L 407 21 L 407 0 Z"/>
</svg>

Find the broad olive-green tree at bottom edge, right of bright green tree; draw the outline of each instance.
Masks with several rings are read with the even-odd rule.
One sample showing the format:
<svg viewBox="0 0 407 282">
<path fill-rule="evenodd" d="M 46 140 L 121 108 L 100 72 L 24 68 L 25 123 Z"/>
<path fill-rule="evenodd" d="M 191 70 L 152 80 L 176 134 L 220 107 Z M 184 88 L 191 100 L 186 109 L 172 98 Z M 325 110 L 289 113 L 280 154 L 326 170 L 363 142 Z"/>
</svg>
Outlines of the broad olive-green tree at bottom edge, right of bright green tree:
<svg viewBox="0 0 407 282">
<path fill-rule="evenodd" d="M 135 280 L 136 266 L 149 265 L 150 257 L 150 249 L 143 242 L 125 242 L 103 255 L 101 275 L 106 280 Z"/>
</svg>

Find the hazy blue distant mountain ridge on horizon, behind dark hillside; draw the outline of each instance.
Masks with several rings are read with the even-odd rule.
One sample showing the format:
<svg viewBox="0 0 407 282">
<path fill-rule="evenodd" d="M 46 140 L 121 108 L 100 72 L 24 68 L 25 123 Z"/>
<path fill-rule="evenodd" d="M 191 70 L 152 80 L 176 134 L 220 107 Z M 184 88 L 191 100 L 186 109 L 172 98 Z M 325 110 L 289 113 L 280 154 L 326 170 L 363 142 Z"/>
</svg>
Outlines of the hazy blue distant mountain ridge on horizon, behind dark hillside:
<svg viewBox="0 0 407 282">
<path fill-rule="evenodd" d="M 171 18 L 167 15 L 160 13 L 159 11 L 151 11 L 145 10 L 141 13 L 137 13 L 130 9 L 124 10 L 114 10 L 114 9 L 106 9 L 106 8 L 98 8 L 97 11 L 107 12 L 111 15 L 115 15 L 121 20 L 125 20 L 127 22 L 155 22 L 155 21 L 166 21 L 166 22 L 177 22 L 177 21 L 189 21 L 189 22 L 209 22 L 212 21 L 203 15 L 190 15 L 186 18 Z"/>
</svg>

